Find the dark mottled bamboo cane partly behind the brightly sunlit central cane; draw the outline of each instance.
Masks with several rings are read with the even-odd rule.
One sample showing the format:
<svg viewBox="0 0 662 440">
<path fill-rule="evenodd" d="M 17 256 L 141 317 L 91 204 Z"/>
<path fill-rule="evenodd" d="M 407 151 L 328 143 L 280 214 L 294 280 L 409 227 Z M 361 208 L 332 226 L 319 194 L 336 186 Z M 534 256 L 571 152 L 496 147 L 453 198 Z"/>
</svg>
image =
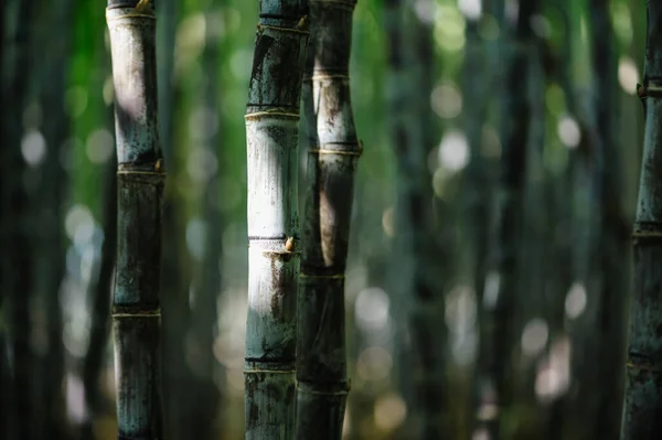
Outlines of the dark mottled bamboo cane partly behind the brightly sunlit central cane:
<svg viewBox="0 0 662 440">
<path fill-rule="evenodd" d="M 344 271 L 361 147 L 350 100 L 355 1 L 311 1 L 308 183 L 298 300 L 298 439 L 338 439 L 349 391 Z"/>
</svg>

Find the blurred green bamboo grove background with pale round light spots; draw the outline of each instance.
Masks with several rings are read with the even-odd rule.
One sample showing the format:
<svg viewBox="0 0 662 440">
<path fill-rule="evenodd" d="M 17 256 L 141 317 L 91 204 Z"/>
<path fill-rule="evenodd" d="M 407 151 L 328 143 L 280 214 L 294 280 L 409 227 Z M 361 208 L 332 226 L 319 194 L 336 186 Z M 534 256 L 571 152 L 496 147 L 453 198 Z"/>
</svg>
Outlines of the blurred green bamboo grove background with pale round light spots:
<svg viewBox="0 0 662 440">
<path fill-rule="evenodd" d="M 420 355 L 410 316 L 421 303 L 399 272 L 414 253 L 397 221 L 402 120 L 419 126 L 410 138 L 425 139 L 404 149 L 425 148 L 416 173 L 436 246 L 423 266 L 438 294 L 423 307 L 435 330 L 426 346 L 442 359 L 446 438 L 490 438 L 480 425 L 496 408 L 494 362 L 512 394 L 500 409 L 504 438 L 618 437 L 645 2 L 537 0 L 519 25 L 528 1 L 355 8 L 350 71 L 364 152 L 345 289 L 346 439 L 414 439 L 423 417 L 420 372 L 409 363 Z M 243 115 L 258 2 L 159 0 L 157 10 L 166 432 L 242 439 Z M 28 423 L 35 439 L 113 439 L 116 163 L 105 3 L 4 0 L 1 11 L 1 437 Z M 398 32 L 404 65 L 393 63 Z M 509 200 L 517 221 L 504 227 Z M 504 282 L 505 314 L 495 305 Z M 505 348 L 494 342 L 503 322 Z"/>
</svg>

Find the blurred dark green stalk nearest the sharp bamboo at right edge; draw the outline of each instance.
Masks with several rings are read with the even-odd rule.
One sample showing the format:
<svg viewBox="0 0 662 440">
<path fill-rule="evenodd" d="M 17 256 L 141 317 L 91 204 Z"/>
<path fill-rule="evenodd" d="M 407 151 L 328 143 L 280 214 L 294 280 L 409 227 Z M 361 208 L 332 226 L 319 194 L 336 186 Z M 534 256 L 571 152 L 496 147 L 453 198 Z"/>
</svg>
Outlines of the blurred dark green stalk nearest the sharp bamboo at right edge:
<svg viewBox="0 0 662 440">
<path fill-rule="evenodd" d="M 570 335 L 573 350 L 570 358 L 570 377 L 576 389 L 574 395 L 563 396 L 564 437 L 577 436 L 588 438 L 596 432 L 595 427 L 586 420 L 595 420 L 599 401 L 598 390 L 602 386 L 595 374 L 599 368 L 597 351 L 598 286 L 592 276 L 591 258 L 595 255 L 600 227 L 597 213 L 599 212 L 595 197 L 594 181 L 596 174 L 596 151 L 598 139 L 591 127 L 589 115 L 583 110 L 579 85 L 574 84 L 573 71 L 577 63 L 583 63 L 576 46 L 578 46 L 578 24 L 584 3 L 566 0 L 559 4 L 564 26 L 568 30 L 564 39 L 563 62 L 559 72 L 559 83 L 564 89 L 566 107 L 569 115 L 577 121 L 580 132 L 579 144 L 568 154 L 567 175 L 570 182 L 569 202 L 572 223 L 570 277 L 572 282 L 585 290 L 587 307 L 578 316 L 570 316 L 566 330 Z M 600 245 L 601 246 L 601 245 Z M 555 427 L 558 428 L 558 427 Z"/>
</svg>

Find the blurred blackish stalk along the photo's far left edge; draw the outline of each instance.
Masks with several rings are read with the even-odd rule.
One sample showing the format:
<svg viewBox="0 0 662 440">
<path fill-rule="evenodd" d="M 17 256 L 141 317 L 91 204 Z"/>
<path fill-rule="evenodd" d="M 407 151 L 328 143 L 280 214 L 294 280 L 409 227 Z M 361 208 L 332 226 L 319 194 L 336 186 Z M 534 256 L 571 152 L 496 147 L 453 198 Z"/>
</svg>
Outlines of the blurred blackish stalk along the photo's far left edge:
<svg viewBox="0 0 662 440">
<path fill-rule="evenodd" d="M 31 25 L 35 17 L 36 4 L 32 0 L 13 4 L 18 8 L 15 17 L 15 33 L 11 35 L 11 60 L 7 66 L 7 83 L 2 84 L 2 101 L 11 107 L 0 122 L 3 127 L 0 148 L 0 167 L 2 167 L 2 227 L 0 234 L 4 251 L 2 259 L 1 282 L 4 297 L 3 311 L 7 325 L 9 356 L 11 359 L 9 389 L 2 389 L 11 398 L 7 417 L 9 438 L 32 439 L 35 433 L 35 418 L 32 396 L 34 395 L 33 379 L 35 355 L 31 347 L 30 302 L 35 282 L 33 280 L 33 230 L 28 191 L 24 185 L 26 171 L 21 154 L 21 137 L 23 135 L 22 115 L 29 103 L 31 85 L 36 78 L 32 69 L 32 33 Z M 4 35 L 3 35 L 4 36 Z M 7 60 L 8 57 L 6 57 Z M 3 60 L 4 61 L 4 60 Z M 2 73 L 4 74 L 4 69 Z M 4 385 L 4 384 L 2 384 Z"/>
</svg>

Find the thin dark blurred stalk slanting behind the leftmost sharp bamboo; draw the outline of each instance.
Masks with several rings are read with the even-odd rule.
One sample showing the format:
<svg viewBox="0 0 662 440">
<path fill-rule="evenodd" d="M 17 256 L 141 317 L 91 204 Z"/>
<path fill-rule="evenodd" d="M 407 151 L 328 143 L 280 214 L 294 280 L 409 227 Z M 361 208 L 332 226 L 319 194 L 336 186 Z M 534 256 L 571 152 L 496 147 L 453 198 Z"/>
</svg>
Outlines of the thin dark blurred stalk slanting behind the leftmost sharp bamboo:
<svg viewBox="0 0 662 440">
<path fill-rule="evenodd" d="M 117 160 L 113 154 L 106 167 L 104 186 L 104 243 L 97 279 L 90 285 L 93 292 L 89 344 L 83 364 L 83 386 L 88 420 L 83 426 L 83 438 L 93 439 L 92 427 L 103 414 L 103 395 L 99 385 L 105 353 L 108 346 L 110 322 L 110 289 L 117 250 Z"/>
</svg>

